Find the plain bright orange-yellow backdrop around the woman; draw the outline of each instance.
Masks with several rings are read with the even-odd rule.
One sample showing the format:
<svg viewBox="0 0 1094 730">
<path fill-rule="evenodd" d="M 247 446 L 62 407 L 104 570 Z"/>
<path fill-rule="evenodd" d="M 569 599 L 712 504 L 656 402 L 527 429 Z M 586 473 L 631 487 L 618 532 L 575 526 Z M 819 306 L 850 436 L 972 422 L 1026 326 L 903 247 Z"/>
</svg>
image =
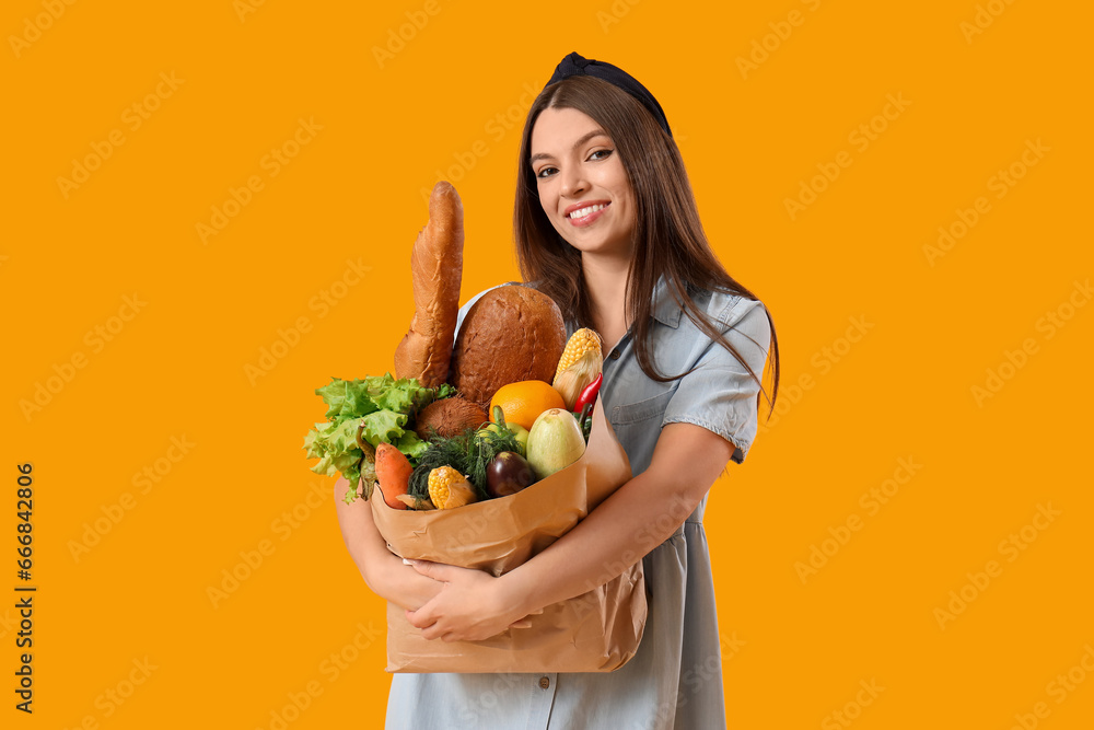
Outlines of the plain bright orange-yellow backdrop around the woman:
<svg viewBox="0 0 1094 730">
<path fill-rule="evenodd" d="M 56 19 L 47 5 L 0 13 L 3 605 L 20 583 L 23 462 L 39 588 L 33 716 L 12 707 L 16 612 L 0 610 L 4 727 L 266 729 L 309 686 L 289 727 L 383 726 L 384 606 L 344 548 L 331 480 L 301 451 L 323 418 L 313 391 L 391 368 L 439 174 L 466 211 L 462 301 L 516 277 L 519 125 L 571 50 L 657 96 L 711 241 L 778 328 L 785 405 L 707 512 L 723 645 L 737 647 L 731 725 L 843 727 L 840 711 L 863 730 L 1004 729 L 1016 714 L 1090 727 L 1094 306 L 1062 306 L 1051 337 L 1044 318 L 1094 268 L 1086 5 L 89 1 L 53 3 Z M 908 105 L 874 119 L 888 94 Z M 146 100 L 158 108 L 133 129 L 126 109 Z M 271 175 L 267 155 L 301 119 L 322 129 Z M 861 150 L 850 136 L 872 119 L 885 129 Z M 62 190 L 112 132 L 124 143 Z M 1036 140 L 1048 151 L 1022 170 Z M 792 219 L 785 199 L 841 151 L 850 166 Z M 998 198 L 989 185 L 1011 165 L 1025 174 Z M 202 242 L 198 224 L 252 176 L 261 189 Z M 939 227 L 981 196 L 990 210 L 929 260 Z M 359 258 L 371 270 L 331 289 Z M 324 291 L 344 296 L 324 309 Z M 301 317 L 309 331 L 248 376 Z M 852 318 L 872 325 L 853 343 Z M 978 402 L 989 369 L 1006 379 Z M 21 402 L 50 378 L 57 392 L 27 417 Z M 860 497 L 906 476 L 900 459 L 921 467 L 870 514 Z M 142 491 L 146 468 L 161 474 Z M 1038 505 L 1059 514 L 1035 520 Z M 852 515 L 861 530 L 824 543 Z M 1001 545 L 1011 534 L 1023 549 Z M 241 553 L 260 545 L 261 565 L 214 605 L 208 589 L 245 575 Z M 803 582 L 814 545 L 833 555 Z M 1001 573 L 969 588 L 990 560 Z M 963 587 L 978 594 L 940 626 Z M 331 654 L 352 661 L 335 674 Z M 1050 683 L 1069 670 L 1084 681 L 1060 702 Z M 872 681 L 884 690 L 856 708 Z M 107 694 L 130 688 L 121 704 Z"/>
</svg>

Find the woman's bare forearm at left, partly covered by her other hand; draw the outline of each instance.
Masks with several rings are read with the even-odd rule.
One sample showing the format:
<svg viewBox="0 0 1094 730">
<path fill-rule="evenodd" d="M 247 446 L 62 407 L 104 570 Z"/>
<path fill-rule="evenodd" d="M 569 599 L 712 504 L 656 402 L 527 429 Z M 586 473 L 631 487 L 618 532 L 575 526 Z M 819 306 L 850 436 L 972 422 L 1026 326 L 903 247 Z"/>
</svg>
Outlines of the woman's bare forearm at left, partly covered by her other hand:
<svg viewBox="0 0 1094 730">
<path fill-rule="evenodd" d="M 335 483 L 335 509 L 346 548 L 364 582 L 376 595 L 404 609 L 415 610 L 428 603 L 441 591 L 442 583 L 418 573 L 392 554 L 376 529 L 372 506 L 360 497 L 347 505 L 348 489 L 349 482 L 339 477 Z M 379 493 L 376 498 L 381 498 Z"/>
</svg>

